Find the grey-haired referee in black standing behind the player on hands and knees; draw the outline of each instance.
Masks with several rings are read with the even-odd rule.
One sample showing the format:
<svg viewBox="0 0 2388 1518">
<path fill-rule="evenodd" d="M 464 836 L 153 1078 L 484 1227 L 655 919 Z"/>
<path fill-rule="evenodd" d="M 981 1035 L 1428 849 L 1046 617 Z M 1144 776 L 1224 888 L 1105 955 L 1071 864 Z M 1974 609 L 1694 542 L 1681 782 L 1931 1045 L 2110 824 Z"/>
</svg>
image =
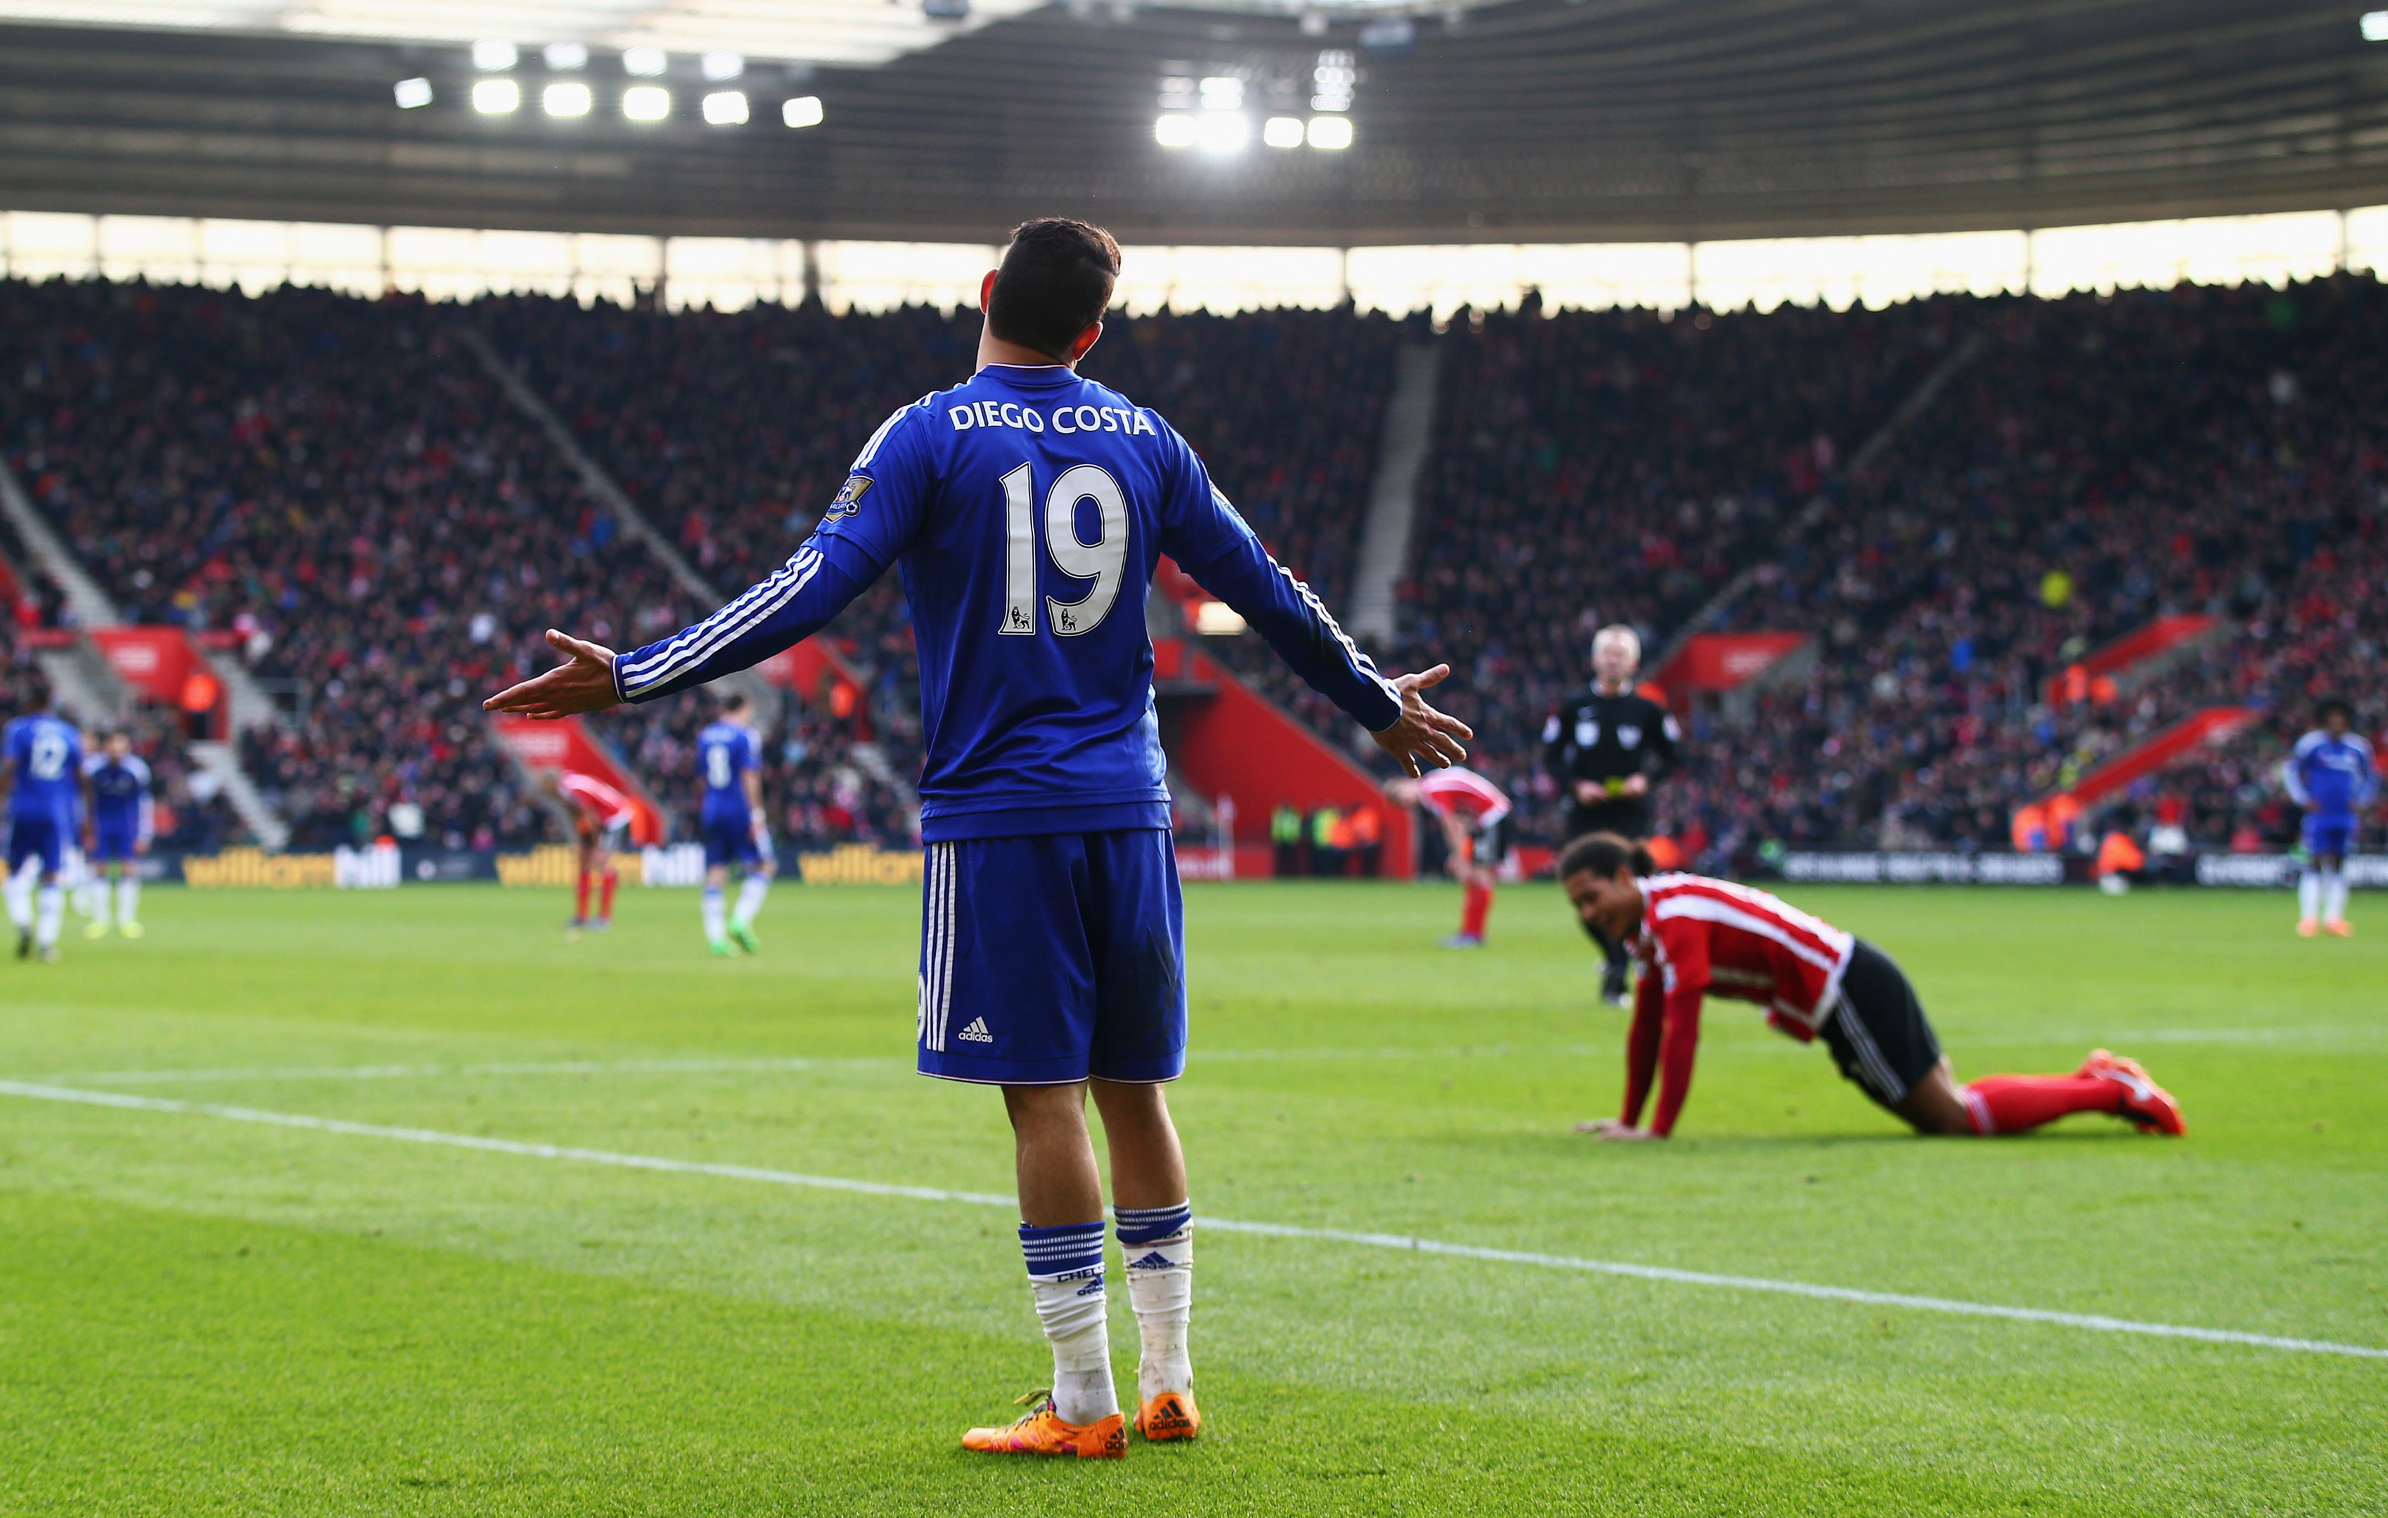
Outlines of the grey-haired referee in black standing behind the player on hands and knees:
<svg viewBox="0 0 2388 1518">
<path fill-rule="evenodd" d="M 1641 637 L 1624 623 L 1593 632 L 1593 695 L 1543 723 L 1543 769 L 1567 792 L 1567 838 L 1617 833 L 1641 843 L 1650 835 L 1650 788 L 1674 773 L 1684 754 L 1684 728 L 1664 706 L 1633 690 Z M 1626 945 L 1600 928 L 1583 931 L 1607 957 L 1600 1000 L 1626 1005 Z"/>
</svg>

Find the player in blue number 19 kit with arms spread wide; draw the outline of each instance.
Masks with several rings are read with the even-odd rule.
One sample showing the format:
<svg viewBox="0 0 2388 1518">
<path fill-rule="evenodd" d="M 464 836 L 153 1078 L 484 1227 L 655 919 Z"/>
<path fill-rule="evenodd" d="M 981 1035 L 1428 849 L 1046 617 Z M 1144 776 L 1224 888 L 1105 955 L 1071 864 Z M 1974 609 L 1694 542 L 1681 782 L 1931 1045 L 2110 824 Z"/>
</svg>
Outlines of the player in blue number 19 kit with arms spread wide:
<svg viewBox="0 0 2388 1518">
<path fill-rule="evenodd" d="M 1201 1430 L 1194 1212 L 1163 1100 L 1184 1069 L 1187 988 L 1144 632 L 1156 559 L 1239 611 L 1411 776 L 1461 761 L 1473 738 L 1421 695 L 1445 666 L 1383 678 L 1168 422 L 1077 375 L 1118 272 L 1108 232 L 1024 222 L 979 286 L 977 375 L 872 434 L 786 568 L 628 654 L 549 632 L 571 661 L 487 702 L 559 718 L 702 685 L 807 637 L 900 563 L 929 749 L 919 1069 L 1003 1088 L 1020 1248 L 1053 1346 L 1051 1394 L 1029 1415 L 962 1434 L 989 1454 L 1127 1449 L 1089 1088 L 1141 1332 L 1137 1430 Z"/>
</svg>

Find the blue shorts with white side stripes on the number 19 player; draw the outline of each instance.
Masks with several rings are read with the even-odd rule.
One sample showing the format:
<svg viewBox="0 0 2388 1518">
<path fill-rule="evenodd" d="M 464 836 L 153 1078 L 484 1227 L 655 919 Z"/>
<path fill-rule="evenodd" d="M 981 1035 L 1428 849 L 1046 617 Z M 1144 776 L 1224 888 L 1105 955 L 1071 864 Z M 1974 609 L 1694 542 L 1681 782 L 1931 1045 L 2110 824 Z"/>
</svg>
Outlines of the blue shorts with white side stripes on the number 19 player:
<svg viewBox="0 0 2388 1518">
<path fill-rule="evenodd" d="M 919 1072 L 989 1086 L 1175 1081 L 1184 905 L 1165 828 L 931 843 Z"/>
</svg>

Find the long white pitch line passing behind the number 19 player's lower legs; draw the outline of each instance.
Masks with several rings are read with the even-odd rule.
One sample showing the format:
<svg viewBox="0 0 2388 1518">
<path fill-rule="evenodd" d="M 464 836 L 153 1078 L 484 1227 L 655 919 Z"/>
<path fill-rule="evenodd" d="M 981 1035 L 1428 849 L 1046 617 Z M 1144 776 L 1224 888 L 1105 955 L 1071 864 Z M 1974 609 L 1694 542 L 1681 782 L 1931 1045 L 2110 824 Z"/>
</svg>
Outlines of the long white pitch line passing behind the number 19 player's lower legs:
<svg viewBox="0 0 2388 1518">
<path fill-rule="evenodd" d="M 604 1148 L 576 1148 L 566 1143 L 523 1143 L 518 1138 L 485 1138 L 478 1134 L 442 1134 L 437 1129 L 399 1129 L 377 1122 L 349 1122 L 341 1117 L 310 1117 L 306 1112 L 263 1112 L 258 1107 L 220 1107 L 210 1103 L 179 1103 L 155 1096 L 127 1096 L 122 1091 L 79 1091 L 74 1086 L 33 1086 L 26 1081 L 0 1081 L 0 1096 L 21 1096 L 45 1103 L 79 1103 L 88 1107 L 127 1107 L 136 1112 L 186 1112 L 198 1117 L 222 1117 L 229 1122 L 258 1122 L 277 1129 L 310 1129 L 318 1134 L 349 1134 L 353 1138 L 396 1138 L 401 1143 L 432 1143 L 442 1148 L 473 1148 L 499 1155 L 523 1155 L 533 1160 L 578 1160 L 583 1165 L 614 1165 L 621 1170 L 657 1170 L 666 1174 L 709 1174 L 733 1181 L 762 1181 L 769 1186 L 810 1186 L 817 1191 L 848 1191 L 857 1196 L 900 1196 L 907 1201 L 970 1203 L 979 1208 L 1015 1208 L 1010 1196 L 989 1191 L 946 1191 L 941 1186 L 896 1186 L 891 1181 L 855 1181 L 831 1174 L 802 1174 L 795 1170 L 762 1170 L 755 1165 L 714 1165 L 707 1160 L 666 1160 L 661 1155 L 623 1155 Z M 1445 1244 L 1440 1239 L 1411 1239 L 1407 1234 L 1356 1234 L 1347 1229 L 1311 1229 L 1290 1222 L 1237 1222 L 1232 1217 L 1204 1217 L 1201 1227 L 1230 1234 L 1261 1234 L 1268 1239 L 1306 1239 L 1321 1244 L 1359 1244 L 1366 1248 L 1402 1248 L 1421 1255 L 1445 1255 L 1454 1260 L 1492 1260 L 1500 1265 L 1540 1265 L 1545 1270 L 1578 1270 L 1588 1275 L 1617 1275 L 1638 1282 L 1667 1282 L 1676 1286 L 1717 1286 L 1727 1291 L 1772 1291 L 1777 1296 L 1808 1296 L 1815 1301 L 1846 1301 L 1867 1308 L 1908 1308 L 1915 1313 L 1951 1313 L 1958 1318 L 2004 1318 L 2011 1322 L 2047 1322 L 2056 1327 L 2097 1329 L 2104 1334 L 2142 1334 L 2149 1339 L 2195 1339 L 2199 1344 L 2245 1344 L 2254 1349 L 2283 1349 L 2316 1356 L 2352 1356 L 2364 1360 L 2388 1360 L 2388 1349 L 2367 1344 L 2333 1344 L 2328 1339 L 2285 1339 L 2278 1334 L 2247 1334 L 2240 1329 L 2207 1329 L 2178 1322 L 2140 1322 L 2132 1318 L 2106 1318 L 2099 1313 L 2054 1313 L 2049 1308 L 2006 1308 L 1980 1301 L 1953 1301 L 1946 1296 L 1908 1296 L 1903 1291 L 1860 1291 L 1855 1286 L 1817 1286 L 1810 1282 L 1774 1282 L 1755 1275 L 1715 1275 L 1707 1270 L 1672 1270 L 1667 1265 L 1629 1265 L 1621 1260 L 1586 1260 L 1578 1255 L 1545 1255 L 1521 1248 L 1485 1248 L 1481 1244 Z"/>
</svg>

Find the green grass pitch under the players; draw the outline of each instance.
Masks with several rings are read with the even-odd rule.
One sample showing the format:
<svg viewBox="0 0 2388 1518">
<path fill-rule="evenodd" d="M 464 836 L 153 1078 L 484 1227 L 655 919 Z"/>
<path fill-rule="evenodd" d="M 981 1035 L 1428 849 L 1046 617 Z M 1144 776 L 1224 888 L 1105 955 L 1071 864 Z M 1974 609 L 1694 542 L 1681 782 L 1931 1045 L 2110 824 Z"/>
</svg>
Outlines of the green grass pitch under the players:
<svg viewBox="0 0 2388 1518">
<path fill-rule="evenodd" d="M 1621 1017 L 1552 888 L 1452 955 L 1450 888 L 1208 886 L 1196 1217 L 2388 1346 L 2369 897 L 2302 943 L 2259 893 L 1791 895 L 1908 967 L 1961 1076 L 2111 1043 L 2192 1136 L 1908 1138 L 1715 1002 L 1679 1138 L 1595 1146 Z M 690 893 L 573 945 L 552 893 L 148 907 L 0 964 L 0 1076 L 1010 1189 L 996 1096 L 910 1074 L 910 890 L 783 888 L 755 962 Z M 1013 1222 L 0 1096 L 0 1513 L 2388 1511 L 2383 1358 L 1225 1229 L 1196 1446 L 967 1456 L 1048 1365 Z"/>
</svg>

